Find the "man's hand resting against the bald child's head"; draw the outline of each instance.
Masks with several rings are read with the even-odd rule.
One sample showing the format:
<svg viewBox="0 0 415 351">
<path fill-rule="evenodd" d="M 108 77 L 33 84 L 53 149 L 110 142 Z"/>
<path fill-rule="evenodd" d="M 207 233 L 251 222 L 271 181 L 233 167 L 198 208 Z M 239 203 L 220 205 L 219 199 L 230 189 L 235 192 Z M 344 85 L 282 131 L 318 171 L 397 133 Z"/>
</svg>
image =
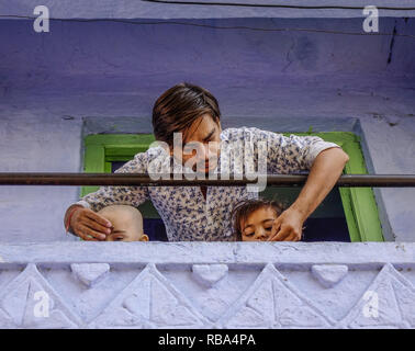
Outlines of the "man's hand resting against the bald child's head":
<svg viewBox="0 0 415 351">
<path fill-rule="evenodd" d="M 70 228 L 83 240 L 102 241 L 111 234 L 112 224 L 110 220 L 85 207 L 72 210 Z"/>
</svg>

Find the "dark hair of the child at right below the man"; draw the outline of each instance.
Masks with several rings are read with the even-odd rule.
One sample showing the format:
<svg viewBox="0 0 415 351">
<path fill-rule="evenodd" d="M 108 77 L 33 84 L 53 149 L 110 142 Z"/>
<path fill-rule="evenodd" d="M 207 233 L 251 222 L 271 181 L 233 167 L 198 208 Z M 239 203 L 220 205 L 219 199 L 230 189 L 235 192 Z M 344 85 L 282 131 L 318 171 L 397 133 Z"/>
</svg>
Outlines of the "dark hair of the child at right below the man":
<svg viewBox="0 0 415 351">
<path fill-rule="evenodd" d="M 245 199 L 239 201 L 231 212 L 231 223 L 233 231 L 236 234 L 236 240 L 242 241 L 240 222 L 246 220 L 253 212 L 261 207 L 271 207 L 277 216 L 284 211 L 284 206 L 273 200 Z"/>
</svg>

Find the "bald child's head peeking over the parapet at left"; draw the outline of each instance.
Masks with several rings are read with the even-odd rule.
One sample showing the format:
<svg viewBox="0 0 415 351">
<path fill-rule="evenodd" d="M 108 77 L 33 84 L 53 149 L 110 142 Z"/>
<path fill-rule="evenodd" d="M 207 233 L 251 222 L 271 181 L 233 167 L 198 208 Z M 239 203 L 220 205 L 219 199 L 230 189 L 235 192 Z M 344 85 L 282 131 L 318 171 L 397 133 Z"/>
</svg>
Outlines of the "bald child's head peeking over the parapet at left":
<svg viewBox="0 0 415 351">
<path fill-rule="evenodd" d="M 143 233 L 143 216 L 135 207 L 127 205 L 111 205 L 98 212 L 112 223 L 112 231 L 105 241 L 148 241 Z"/>
</svg>

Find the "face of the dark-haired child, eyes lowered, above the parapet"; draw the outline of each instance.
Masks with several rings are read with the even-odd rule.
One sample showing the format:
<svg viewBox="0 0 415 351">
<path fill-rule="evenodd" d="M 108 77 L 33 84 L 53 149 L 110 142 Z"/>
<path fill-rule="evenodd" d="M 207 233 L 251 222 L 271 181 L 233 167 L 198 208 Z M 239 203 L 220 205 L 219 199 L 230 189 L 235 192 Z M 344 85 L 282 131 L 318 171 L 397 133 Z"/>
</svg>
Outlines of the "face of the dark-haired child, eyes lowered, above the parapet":
<svg viewBox="0 0 415 351">
<path fill-rule="evenodd" d="M 243 241 L 265 241 L 272 233 L 273 220 L 277 213 L 272 207 L 260 207 L 240 220 Z"/>
</svg>

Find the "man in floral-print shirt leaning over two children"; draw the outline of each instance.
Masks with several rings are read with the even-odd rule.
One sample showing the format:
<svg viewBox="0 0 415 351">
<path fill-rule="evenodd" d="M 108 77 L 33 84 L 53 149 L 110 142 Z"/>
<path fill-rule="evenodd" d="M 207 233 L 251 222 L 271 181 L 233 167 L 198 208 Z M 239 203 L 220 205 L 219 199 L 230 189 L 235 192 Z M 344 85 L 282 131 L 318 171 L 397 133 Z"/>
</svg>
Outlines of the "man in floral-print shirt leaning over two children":
<svg viewBox="0 0 415 351">
<path fill-rule="evenodd" d="M 177 84 L 157 99 L 153 109 L 153 127 L 162 146 L 135 155 L 116 172 L 150 173 L 149 170 L 160 171 L 166 165 L 172 165 L 175 172 L 197 167 L 206 174 L 221 173 L 226 165 L 232 172 L 235 166 L 227 163 L 221 149 L 222 146 L 232 148 L 238 141 L 266 143 L 269 173 L 310 170 L 299 197 L 276 222 L 270 238 L 276 241 L 301 239 L 304 220 L 332 190 L 348 161 L 348 156 L 336 144 L 314 136 L 284 137 L 247 127 L 222 131 L 216 99 L 208 90 L 190 83 Z M 175 143 L 177 133 L 181 133 L 182 143 Z M 253 148 L 256 165 L 259 162 L 258 149 Z M 240 148 L 233 151 L 237 159 Z M 193 166 L 188 167 L 191 160 Z M 72 204 L 64 222 L 67 229 L 85 240 L 105 240 L 112 224 L 97 214 L 99 210 L 113 204 L 137 207 L 149 199 L 166 225 L 170 241 L 233 241 L 231 211 L 240 200 L 253 196 L 257 194 L 250 193 L 247 186 L 101 186 Z"/>
</svg>

